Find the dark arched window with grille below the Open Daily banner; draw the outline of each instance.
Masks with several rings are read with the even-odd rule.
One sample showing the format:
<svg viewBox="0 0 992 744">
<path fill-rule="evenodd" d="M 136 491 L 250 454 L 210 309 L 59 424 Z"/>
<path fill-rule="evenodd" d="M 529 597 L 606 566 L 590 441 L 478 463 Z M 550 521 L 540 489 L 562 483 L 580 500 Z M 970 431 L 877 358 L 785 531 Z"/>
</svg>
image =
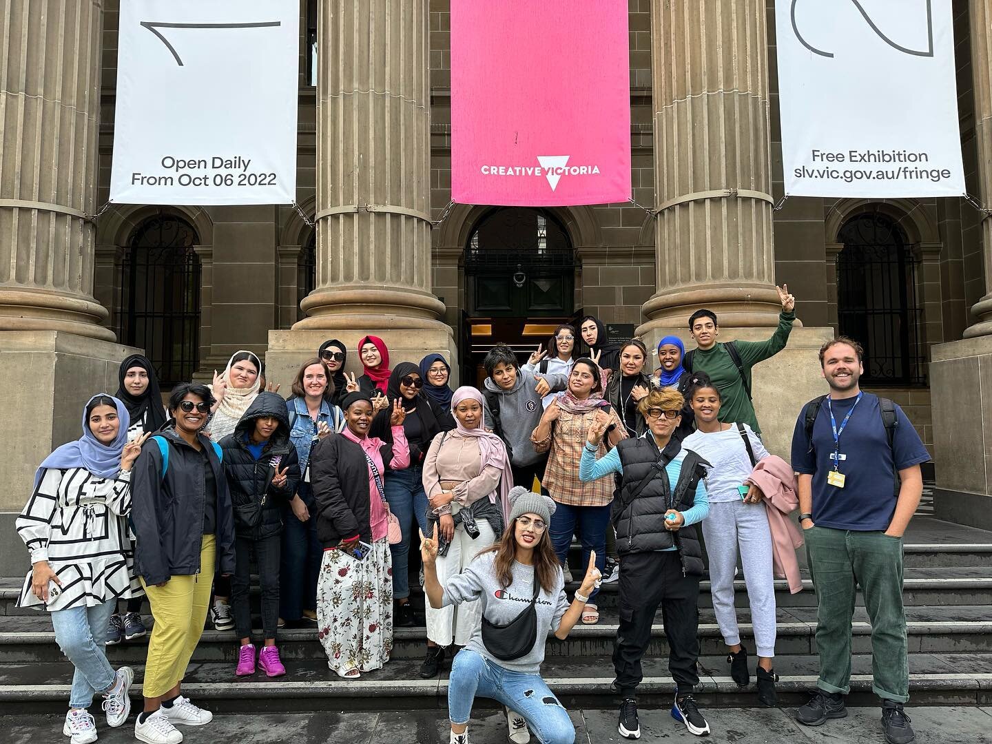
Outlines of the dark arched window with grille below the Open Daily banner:
<svg viewBox="0 0 992 744">
<path fill-rule="evenodd" d="M 138 225 L 121 264 L 118 338 L 145 349 L 164 390 L 199 362 L 198 242 L 185 219 L 160 212 Z"/>
</svg>

